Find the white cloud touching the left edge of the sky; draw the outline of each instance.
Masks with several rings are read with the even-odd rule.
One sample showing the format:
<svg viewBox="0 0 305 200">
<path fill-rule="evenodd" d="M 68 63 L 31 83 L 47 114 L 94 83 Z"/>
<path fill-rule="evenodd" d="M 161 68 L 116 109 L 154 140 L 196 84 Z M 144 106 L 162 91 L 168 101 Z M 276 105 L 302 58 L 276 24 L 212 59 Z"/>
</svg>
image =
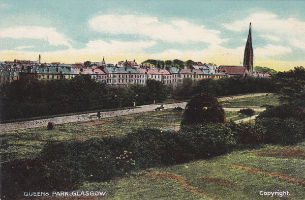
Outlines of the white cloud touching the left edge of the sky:
<svg viewBox="0 0 305 200">
<path fill-rule="evenodd" d="M 56 28 L 46 28 L 41 26 L 18 26 L 9 27 L 0 31 L 0 38 L 13 38 L 13 39 L 44 39 L 50 45 L 65 45 L 71 47 L 71 40 L 66 38 L 65 35 L 56 32 Z"/>
</svg>

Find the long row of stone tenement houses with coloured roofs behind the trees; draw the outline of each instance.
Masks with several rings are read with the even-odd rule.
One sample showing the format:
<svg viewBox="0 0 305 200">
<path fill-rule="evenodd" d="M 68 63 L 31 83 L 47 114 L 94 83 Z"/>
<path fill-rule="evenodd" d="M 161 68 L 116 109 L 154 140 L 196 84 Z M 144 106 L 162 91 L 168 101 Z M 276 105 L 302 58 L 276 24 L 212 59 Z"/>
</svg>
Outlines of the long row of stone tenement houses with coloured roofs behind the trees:
<svg viewBox="0 0 305 200">
<path fill-rule="evenodd" d="M 40 63 L 37 62 L 2 62 L 0 66 L 0 81 L 13 81 L 19 77 L 36 78 L 39 80 L 71 79 L 78 74 L 88 74 L 91 78 L 101 81 L 106 85 L 115 87 L 127 87 L 129 83 L 146 84 L 147 79 L 155 79 L 173 88 L 182 83 L 184 78 L 197 81 L 203 78 L 218 79 L 231 75 L 225 70 L 214 70 L 206 67 L 206 64 L 196 62 L 199 69 L 191 66 L 190 69 L 166 68 L 155 69 L 154 65 L 138 65 L 133 62 L 119 62 L 115 66 L 102 62 L 85 62 L 75 64 L 60 64 L 59 62 Z M 196 67 L 197 68 L 197 67 Z M 241 67 L 242 68 L 242 67 Z M 245 68 L 243 68 L 245 69 Z M 8 73 L 15 71 L 16 73 Z M 18 72 L 18 73 L 17 73 Z"/>
</svg>

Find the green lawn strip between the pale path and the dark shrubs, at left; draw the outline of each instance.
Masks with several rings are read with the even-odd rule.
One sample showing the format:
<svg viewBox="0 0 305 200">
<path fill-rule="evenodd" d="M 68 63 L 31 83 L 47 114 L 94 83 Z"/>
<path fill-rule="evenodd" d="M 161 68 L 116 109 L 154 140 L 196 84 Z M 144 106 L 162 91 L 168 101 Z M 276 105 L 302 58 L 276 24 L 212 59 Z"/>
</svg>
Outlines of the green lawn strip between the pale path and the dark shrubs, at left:
<svg viewBox="0 0 305 200">
<path fill-rule="evenodd" d="M 79 122 L 55 125 L 52 130 L 47 130 L 47 127 L 39 127 L 6 132 L 0 134 L 2 138 L 1 161 L 35 158 L 50 139 L 83 141 L 93 137 L 123 135 L 143 126 L 158 129 L 178 126 L 181 115 L 181 112 L 172 110 L 151 111 L 99 120 L 111 122 L 109 124 L 84 127 L 78 126 L 78 124 L 86 122 Z"/>
</svg>

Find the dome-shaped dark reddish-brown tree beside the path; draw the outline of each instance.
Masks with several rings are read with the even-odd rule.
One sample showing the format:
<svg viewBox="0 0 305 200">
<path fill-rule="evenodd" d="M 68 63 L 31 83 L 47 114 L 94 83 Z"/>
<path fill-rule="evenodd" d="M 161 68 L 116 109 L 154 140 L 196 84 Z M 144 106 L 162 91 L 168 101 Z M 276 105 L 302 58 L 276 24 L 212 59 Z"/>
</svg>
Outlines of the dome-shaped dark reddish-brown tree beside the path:
<svg viewBox="0 0 305 200">
<path fill-rule="evenodd" d="M 225 112 L 216 97 L 208 93 L 200 93 L 192 97 L 186 105 L 181 125 L 205 122 L 225 123 Z"/>
</svg>

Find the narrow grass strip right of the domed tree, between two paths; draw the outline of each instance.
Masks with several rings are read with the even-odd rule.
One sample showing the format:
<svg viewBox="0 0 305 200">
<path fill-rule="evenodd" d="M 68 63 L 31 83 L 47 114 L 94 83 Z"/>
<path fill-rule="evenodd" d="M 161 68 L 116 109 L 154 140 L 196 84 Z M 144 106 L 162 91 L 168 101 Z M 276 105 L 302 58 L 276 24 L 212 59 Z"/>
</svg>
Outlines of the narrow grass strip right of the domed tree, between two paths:
<svg viewBox="0 0 305 200">
<path fill-rule="evenodd" d="M 264 95 L 258 97 L 249 97 L 220 102 L 222 107 L 266 107 L 270 105 L 279 105 L 279 97 L 276 94 Z"/>
</svg>

